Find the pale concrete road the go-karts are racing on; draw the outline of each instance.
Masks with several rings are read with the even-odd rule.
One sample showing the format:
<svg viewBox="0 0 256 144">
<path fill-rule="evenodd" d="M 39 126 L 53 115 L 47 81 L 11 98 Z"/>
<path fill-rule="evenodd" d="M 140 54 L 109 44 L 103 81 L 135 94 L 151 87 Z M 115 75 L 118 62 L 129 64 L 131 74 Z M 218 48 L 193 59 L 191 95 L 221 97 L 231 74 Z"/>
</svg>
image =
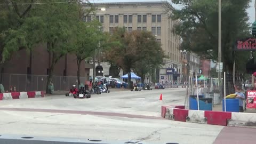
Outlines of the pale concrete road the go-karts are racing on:
<svg viewBox="0 0 256 144">
<path fill-rule="evenodd" d="M 161 93 L 163 101 L 159 101 Z M 162 105 L 184 105 L 185 94 L 186 89 L 166 89 L 110 92 L 92 95 L 91 99 L 52 95 L 4 100 L 0 101 L 0 135 L 213 143 L 223 126 L 182 123 L 161 117 Z"/>
</svg>

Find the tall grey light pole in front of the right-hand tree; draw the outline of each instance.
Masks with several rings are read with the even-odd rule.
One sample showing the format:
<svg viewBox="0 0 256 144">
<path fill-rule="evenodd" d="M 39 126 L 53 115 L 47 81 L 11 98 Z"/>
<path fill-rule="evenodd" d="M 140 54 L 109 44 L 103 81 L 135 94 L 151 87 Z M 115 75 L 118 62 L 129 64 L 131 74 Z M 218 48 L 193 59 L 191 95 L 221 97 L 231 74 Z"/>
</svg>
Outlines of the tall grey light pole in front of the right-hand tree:
<svg viewBox="0 0 256 144">
<path fill-rule="evenodd" d="M 218 62 L 219 62 L 219 67 L 220 67 L 220 62 L 221 62 L 221 0 L 219 0 L 219 46 L 218 46 Z M 219 84 L 221 83 L 221 73 L 219 69 L 218 73 L 218 79 L 219 79 Z"/>
</svg>

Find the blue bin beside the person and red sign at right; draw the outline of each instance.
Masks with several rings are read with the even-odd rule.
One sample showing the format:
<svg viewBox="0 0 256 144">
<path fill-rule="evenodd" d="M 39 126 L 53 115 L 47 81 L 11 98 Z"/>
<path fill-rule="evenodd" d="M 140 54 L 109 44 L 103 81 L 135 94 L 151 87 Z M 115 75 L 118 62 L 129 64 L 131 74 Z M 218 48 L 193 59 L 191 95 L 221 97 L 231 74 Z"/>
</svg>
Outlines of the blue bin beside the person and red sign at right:
<svg viewBox="0 0 256 144">
<path fill-rule="evenodd" d="M 222 100 L 222 111 L 225 111 L 224 100 Z M 239 99 L 226 99 L 226 111 L 239 112 Z"/>
</svg>

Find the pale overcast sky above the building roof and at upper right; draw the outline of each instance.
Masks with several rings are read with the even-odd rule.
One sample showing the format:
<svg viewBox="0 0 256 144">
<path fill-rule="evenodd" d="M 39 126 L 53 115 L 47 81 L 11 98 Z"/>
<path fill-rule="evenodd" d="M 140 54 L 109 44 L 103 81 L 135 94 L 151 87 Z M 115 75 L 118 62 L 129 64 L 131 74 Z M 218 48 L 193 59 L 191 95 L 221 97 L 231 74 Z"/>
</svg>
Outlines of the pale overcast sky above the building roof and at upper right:
<svg viewBox="0 0 256 144">
<path fill-rule="evenodd" d="M 164 1 L 164 0 L 146 0 L 146 1 L 142 1 L 142 0 L 93 0 L 91 2 L 95 2 L 95 3 L 113 3 L 113 2 L 156 2 L 156 1 Z M 241 0 L 243 1 L 243 0 Z M 169 1 L 170 2 L 170 1 Z M 254 2 L 255 0 L 252 0 L 252 2 L 250 3 L 250 8 L 247 10 L 250 20 L 249 22 L 252 23 L 254 22 L 254 18 L 255 18 L 255 13 L 254 13 Z M 177 8 L 178 6 L 173 5 L 175 8 Z"/>
</svg>

